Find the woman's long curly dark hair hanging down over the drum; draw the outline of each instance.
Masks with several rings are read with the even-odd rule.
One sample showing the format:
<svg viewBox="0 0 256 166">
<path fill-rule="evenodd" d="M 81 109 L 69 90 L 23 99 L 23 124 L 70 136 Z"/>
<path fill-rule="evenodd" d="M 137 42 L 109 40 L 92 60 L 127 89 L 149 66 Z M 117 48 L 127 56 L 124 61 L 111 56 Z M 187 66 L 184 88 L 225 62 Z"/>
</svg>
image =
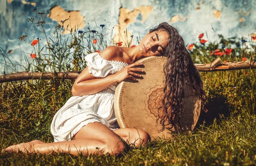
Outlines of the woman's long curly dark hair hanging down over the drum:
<svg viewBox="0 0 256 166">
<path fill-rule="evenodd" d="M 173 127 L 175 127 L 175 130 L 183 130 L 180 128 L 179 121 L 180 115 L 183 113 L 182 103 L 184 101 L 186 78 L 190 79 L 193 89 L 196 91 L 198 98 L 201 99 L 201 109 L 207 112 L 203 82 L 177 29 L 168 23 L 161 23 L 152 28 L 149 33 L 154 31 L 166 31 L 169 34 L 169 41 L 163 55 L 167 57 L 163 66 L 165 74 L 163 106 L 158 109 L 164 115 L 158 116 L 157 121 L 160 120 L 160 124 L 163 126 L 161 131 L 166 128 L 173 132 Z"/>
</svg>

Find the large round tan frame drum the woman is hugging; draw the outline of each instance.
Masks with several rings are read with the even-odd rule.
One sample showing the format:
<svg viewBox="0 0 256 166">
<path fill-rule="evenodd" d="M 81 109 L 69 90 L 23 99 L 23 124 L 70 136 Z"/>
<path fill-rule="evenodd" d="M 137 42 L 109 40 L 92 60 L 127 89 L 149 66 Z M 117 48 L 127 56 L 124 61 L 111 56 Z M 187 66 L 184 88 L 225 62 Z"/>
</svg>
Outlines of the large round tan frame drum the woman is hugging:
<svg viewBox="0 0 256 166">
<path fill-rule="evenodd" d="M 164 73 L 163 65 L 166 57 L 151 56 L 140 59 L 143 63 L 143 79 L 138 82 L 125 80 L 116 87 L 114 110 L 121 128 L 129 127 L 143 129 L 151 137 L 171 137 L 170 131 L 162 129 L 160 122 L 156 122 L 158 107 L 162 105 Z M 196 96 L 192 84 L 186 82 L 184 112 L 180 117 L 180 126 L 186 130 L 194 129 L 200 112 L 201 100 Z M 160 113 L 161 115 L 161 113 Z M 173 130 L 175 130 L 173 128 Z"/>
</svg>

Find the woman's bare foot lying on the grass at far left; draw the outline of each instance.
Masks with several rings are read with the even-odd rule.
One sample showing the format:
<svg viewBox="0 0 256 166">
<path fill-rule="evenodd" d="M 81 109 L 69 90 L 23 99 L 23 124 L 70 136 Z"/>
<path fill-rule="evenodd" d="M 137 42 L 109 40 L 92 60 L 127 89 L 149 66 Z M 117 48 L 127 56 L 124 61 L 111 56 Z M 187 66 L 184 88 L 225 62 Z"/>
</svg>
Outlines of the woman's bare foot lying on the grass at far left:
<svg viewBox="0 0 256 166">
<path fill-rule="evenodd" d="M 17 145 L 9 146 L 6 149 L 3 149 L 2 152 L 23 152 L 23 153 L 32 153 L 34 152 L 34 145 L 37 143 L 44 143 L 40 140 L 34 140 L 27 143 L 20 143 Z"/>
</svg>

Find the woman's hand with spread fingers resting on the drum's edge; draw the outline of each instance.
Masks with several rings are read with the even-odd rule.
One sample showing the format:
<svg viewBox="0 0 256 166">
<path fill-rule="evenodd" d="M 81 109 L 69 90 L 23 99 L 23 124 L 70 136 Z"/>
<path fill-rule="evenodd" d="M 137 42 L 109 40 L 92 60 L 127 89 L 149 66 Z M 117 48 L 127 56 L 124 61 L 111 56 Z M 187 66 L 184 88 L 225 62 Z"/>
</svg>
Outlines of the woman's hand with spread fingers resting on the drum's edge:
<svg viewBox="0 0 256 166">
<path fill-rule="evenodd" d="M 119 70 L 117 73 L 113 74 L 116 76 L 117 82 L 122 82 L 125 79 L 132 79 L 134 81 L 137 81 L 137 79 L 134 76 L 141 77 L 140 74 L 134 73 L 134 72 L 144 72 L 143 70 L 139 68 L 134 68 L 136 66 L 140 66 L 142 63 L 136 62 L 131 65 L 125 66 L 121 70 Z"/>
</svg>

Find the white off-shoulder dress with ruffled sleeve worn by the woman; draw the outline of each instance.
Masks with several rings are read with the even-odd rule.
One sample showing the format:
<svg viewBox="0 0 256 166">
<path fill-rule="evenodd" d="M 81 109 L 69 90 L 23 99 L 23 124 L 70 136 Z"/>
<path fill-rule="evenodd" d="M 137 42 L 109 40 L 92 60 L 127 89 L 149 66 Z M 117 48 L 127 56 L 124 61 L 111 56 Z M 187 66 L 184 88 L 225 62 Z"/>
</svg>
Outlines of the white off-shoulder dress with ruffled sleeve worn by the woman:
<svg viewBox="0 0 256 166">
<path fill-rule="evenodd" d="M 105 77 L 129 65 L 120 61 L 108 61 L 99 53 L 91 53 L 84 58 L 89 72 L 94 77 Z M 91 95 L 72 96 L 54 115 L 51 132 L 54 141 L 68 141 L 84 126 L 100 122 L 111 129 L 119 128 L 114 113 L 114 93 L 117 84 Z"/>
</svg>

